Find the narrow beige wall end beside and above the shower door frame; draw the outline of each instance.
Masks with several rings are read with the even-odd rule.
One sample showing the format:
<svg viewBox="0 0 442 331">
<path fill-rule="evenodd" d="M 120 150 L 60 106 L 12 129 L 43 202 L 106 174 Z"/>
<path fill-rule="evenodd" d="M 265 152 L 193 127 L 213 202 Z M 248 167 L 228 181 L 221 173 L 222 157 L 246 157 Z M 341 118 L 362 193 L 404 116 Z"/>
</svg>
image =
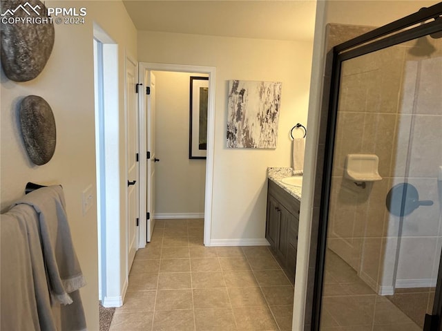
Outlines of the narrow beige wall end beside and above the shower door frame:
<svg viewBox="0 0 442 331">
<path fill-rule="evenodd" d="M 410 15 L 423 6 L 431 6 L 435 3 L 437 1 L 318 1 L 317 3 L 309 118 L 307 121 L 311 134 L 307 136 L 305 153 L 305 167 L 314 169 L 314 171 L 304 174 L 304 185 L 302 187 L 293 330 L 304 330 L 305 323 L 309 324 L 309 320 L 304 320 L 305 299 L 307 291 L 313 291 L 313 287 L 307 288 L 307 275 L 309 272 L 309 254 L 311 252 L 312 217 L 317 217 L 319 214 L 319 205 L 315 205 L 314 201 L 318 201 L 316 197 L 320 192 L 320 183 L 316 183 L 317 189 L 315 192 L 314 178 L 317 167 L 318 169 L 322 167 L 321 160 L 316 160 L 316 154 L 320 136 L 322 91 L 323 88 L 327 89 L 327 86 L 323 86 L 326 25 L 327 23 L 342 23 L 355 26 L 382 26 L 395 19 Z M 314 224 L 317 223 L 318 220 Z M 313 248 L 312 251 L 314 250 Z M 307 305 L 310 306 L 311 301 Z M 309 318 L 310 316 L 307 317 L 307 319 Z"/>
</svg>

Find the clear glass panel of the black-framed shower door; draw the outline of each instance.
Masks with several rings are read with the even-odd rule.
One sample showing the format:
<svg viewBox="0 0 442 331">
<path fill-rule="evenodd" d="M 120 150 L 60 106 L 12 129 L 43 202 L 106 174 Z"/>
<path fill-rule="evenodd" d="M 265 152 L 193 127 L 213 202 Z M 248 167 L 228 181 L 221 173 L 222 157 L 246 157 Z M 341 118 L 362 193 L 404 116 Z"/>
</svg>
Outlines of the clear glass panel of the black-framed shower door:
<svg viewBox="0 0 442 331">
<path fill-rule="evenodd" d="M 340 63 L 320 330 L 423 330 L 441 247 L 442 39 L 427 35 Z"/>
</svg>

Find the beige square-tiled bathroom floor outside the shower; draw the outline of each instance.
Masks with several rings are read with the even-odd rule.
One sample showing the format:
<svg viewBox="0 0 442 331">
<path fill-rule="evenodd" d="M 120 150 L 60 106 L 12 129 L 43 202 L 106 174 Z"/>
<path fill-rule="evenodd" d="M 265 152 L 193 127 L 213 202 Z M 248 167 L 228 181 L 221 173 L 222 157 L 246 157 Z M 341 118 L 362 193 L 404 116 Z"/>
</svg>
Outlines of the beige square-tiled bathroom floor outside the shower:
<svg viewBox="0 0 442 331">
<path fill-rule="evenodd" d="M 268 247 L 204 247 L 203 220 L 157 220 L 111 331 L 291 330 L 294 287 Z"/>
</svg>

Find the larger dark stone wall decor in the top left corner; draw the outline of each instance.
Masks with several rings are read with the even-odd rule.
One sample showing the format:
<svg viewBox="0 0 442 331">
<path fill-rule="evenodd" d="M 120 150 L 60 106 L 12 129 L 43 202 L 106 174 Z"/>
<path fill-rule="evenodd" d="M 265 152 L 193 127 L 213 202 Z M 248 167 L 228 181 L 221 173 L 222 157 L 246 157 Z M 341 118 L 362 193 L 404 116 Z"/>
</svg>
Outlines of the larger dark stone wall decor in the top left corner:
<svg viewBox="0 0 442 331">
<path fill-rule="evenodd" d="M 15 82 L 28 82 L 41 73 L 52 52 L 52 18 L 38 0 L 1 0 L 0 15 L 3 71 Z"/>
</svg>

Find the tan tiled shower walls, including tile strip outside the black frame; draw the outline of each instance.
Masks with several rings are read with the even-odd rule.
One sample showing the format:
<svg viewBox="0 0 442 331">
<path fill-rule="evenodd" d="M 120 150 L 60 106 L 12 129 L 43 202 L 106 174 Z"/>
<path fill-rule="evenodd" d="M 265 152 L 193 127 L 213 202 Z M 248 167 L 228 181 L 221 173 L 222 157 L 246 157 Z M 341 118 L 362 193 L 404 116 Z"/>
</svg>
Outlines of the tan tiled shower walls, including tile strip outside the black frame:
<svg viewBox="0 0 442 331">
<path fill-rule="evenodd" d="M 371 28 L 329 25 L 327 49 L 368 30 Z M 431 42 L 440 53 L 442 40 L 432 39 Z M 441 57 L 419 57 L 419 64 L 417 58 L 409 53 L 414 44 L 415 41 L 407 46 L 394 46 L 347 61 L 340 92 L 341 113 L 336 131 L 329 215 L 329 236 L 332 238 L 328 247 L 356 269 L 376 292 L 384 294 L 388 294 L 395 285 L 396 260 L 396 286 L 410 287 L 416 279 L 424 280 L 421 285 L 425 280 L 431 283 L 437 271 L 441 247 L 436 176 L 442 165 L 442 101 L 439 91 L 442 78 L 430 73 L 441 73 L 442 62 Z M 416 79 L 418 68 L 421 73 Z M 331 70 L 332 57 L 329 53 L 324 77 L 318 164 L 322 164 L 325 152 Z M 418 82 L 418 86 L 414 82 Z M 378 155 L 379 173 L 383 180 L 361 189 L 343 178 L 347 153 Z M 407 164 L 407 160 L 411 162 Z M 422 194 L 421 200 L 434 200 L 434 205 L 420 207 L 403 220 L 401 249 L 398 250 L 401 220 L 390 216 L 385 207 L 385 197 L 392 186 L 404 181 L 405 165 L 410 183 Z M 305 330 L 310 330 L 311 321 L 322 175 L 322 169 L 318 169 Z M 398 256 L 396 252 L 400 252 Z M 416 265 L 416 262 L 419 264 Z"/>
</svg>

